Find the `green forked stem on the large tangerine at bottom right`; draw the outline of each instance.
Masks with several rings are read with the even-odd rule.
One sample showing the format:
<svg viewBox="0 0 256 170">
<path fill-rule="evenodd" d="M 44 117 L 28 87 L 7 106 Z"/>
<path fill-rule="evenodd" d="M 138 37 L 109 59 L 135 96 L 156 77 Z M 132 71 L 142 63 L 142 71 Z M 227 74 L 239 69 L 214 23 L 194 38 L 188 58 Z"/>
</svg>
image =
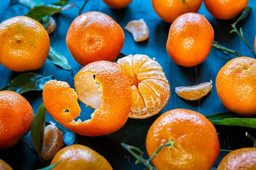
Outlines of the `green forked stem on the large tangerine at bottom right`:
<svg viewBox="0 0 256 170">
<path fill-rule="evenodd" d="M 166 146 L 169 146 L 168 148 L 173 148 L 174 143 L 175 143 L 175 141 L 169 140 L 168 142 L 166 142 L 166 144 L 159 146 L 159 148 L 157 148 L 155 153 L 149 159 L 144 159 L 142 157 L 144 155 L 144 152 L 135 146 L 130 146 L 130 145 L 127 145 L 124 143 L 121 143 L 121 146 L 123 146 L 126 150 L 128 150 L 128 152 L 130 152 L 130 154 L 132 154 L 132 156 L 134 156 L 137 159 L 135 164 L 141 162 L 141 163 L 144 163 L 144 165 L 147 166 L 150 170 L 157 170 L 153 165 L 151 165 L 151 163 L 150 163 L 151 160 L 154 159 L 156 157 L 157 153 L 160 152 Z M 139 152 L 139 155 L 136 152 L 134 152 L 133 150 Z"/>
</svg>

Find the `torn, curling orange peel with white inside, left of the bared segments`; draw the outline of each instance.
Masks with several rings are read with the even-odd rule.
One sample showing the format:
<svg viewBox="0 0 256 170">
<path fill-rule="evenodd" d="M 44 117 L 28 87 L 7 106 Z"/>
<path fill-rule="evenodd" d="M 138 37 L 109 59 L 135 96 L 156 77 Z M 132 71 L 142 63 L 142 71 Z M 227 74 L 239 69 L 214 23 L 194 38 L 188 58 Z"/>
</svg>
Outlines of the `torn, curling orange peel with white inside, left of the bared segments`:
<svg viewBox="0 0 256 170">
<path fill-rule="evenodd" d="M 76 91 L 67 82 L 50 80 L 45 84 L 43 102 L 56 121 L 85 136 L 107 135 L 124 126 L 131 109 L 131 91 L 128 75 L 119 64 L 103 60 L 87 64 L 75 75 L 74 86 Z M 77 99 L 95 109 L 90 119 L 77 118 L 81 113 Z"/>
</svg>

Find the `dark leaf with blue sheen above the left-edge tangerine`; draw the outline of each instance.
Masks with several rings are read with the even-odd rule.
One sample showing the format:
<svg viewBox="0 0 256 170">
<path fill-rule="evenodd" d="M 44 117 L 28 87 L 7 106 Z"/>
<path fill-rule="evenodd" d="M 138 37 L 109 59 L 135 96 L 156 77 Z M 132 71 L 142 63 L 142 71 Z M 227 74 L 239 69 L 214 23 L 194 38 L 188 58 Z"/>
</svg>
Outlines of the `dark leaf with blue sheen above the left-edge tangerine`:
<svg viewBox="0 0 256 170">
<path fill-rule="evenodd" d="M 40 91 L 43 90 L 45 83 L 53 79 L 53 75 L 43 76 L 38 73 L 23 73 L 12 79 L 8 85 L 0 90 L 15 91 L 19 94 L 27 91 Z"/>
</svg>

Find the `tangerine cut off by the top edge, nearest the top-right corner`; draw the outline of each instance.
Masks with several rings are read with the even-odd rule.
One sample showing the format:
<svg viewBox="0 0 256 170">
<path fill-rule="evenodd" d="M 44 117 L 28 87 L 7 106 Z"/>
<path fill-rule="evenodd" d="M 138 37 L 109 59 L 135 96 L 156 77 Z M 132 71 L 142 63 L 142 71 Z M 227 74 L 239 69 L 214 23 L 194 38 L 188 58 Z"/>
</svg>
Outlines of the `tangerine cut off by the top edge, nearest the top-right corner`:
<svg viewBox="0 0 256 170">
<path fill-rule="evenodd" d="M 221 20 L 229 20 L 239 15 L 249 0 L 204 0 L 206 9 L 213 17 Z"/>
</svg>

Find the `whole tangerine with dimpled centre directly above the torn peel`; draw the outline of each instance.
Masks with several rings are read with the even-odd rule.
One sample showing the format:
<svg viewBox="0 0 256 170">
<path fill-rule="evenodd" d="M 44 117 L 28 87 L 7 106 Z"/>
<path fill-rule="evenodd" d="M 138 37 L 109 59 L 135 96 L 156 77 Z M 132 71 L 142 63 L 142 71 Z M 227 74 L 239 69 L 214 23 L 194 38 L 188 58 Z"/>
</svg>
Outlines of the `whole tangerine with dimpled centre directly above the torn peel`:
<svg viewBox="0 0 256 170">
<path fill-rule="evenodd" d="M 76 17 L 66 35 L 74 60 L 85 66 L 94 61 L 114 61 L 124 46 L 124 31 L 110 16 L 91 11 Z"/>
</svg>

